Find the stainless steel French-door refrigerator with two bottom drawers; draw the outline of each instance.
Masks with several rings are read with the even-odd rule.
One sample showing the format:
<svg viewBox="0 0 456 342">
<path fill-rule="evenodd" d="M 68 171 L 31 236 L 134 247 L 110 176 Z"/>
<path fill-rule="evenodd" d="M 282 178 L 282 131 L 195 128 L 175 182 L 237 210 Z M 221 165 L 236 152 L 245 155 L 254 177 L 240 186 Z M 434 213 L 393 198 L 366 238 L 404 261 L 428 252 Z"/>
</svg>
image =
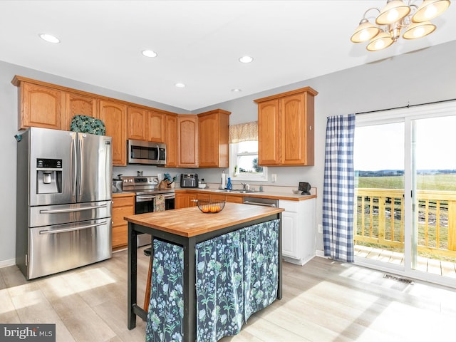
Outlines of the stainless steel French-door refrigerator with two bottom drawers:
<svg viewBox="0 0 456 342">
<path fill-rule="evenodd" d="M 110 258 L 111 138 L 29 128 L 16 139 L 16 264 L 26 279 Z"/>
</svg>

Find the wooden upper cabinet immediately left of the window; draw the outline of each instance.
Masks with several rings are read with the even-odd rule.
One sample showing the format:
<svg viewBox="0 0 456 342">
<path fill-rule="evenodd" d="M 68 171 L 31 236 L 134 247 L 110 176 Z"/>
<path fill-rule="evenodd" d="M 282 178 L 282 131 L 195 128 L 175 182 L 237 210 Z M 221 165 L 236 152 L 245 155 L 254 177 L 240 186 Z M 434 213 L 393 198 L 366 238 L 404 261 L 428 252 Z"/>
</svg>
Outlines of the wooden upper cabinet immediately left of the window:
<svg viewBox="0 0 456 342">
<path fill-rule="evenodd" d="M 230 114 L 222 109 L 198 114 L 199 167 L 228 167 Z"/>
</svg>

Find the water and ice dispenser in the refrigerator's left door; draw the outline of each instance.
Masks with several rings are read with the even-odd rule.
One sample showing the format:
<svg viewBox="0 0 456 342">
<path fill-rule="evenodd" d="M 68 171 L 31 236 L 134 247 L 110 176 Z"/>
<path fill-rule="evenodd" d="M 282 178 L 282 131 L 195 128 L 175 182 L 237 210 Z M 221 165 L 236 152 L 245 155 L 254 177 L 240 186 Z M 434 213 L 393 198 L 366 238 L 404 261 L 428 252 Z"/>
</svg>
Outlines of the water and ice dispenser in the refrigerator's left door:
<svg viewBox="0 0 456 342">
<path fill-rule="evenodd" d="M 62 160 L 36 159 L 36 193 L 57 194 L 62 192 Z"/>
</svg>

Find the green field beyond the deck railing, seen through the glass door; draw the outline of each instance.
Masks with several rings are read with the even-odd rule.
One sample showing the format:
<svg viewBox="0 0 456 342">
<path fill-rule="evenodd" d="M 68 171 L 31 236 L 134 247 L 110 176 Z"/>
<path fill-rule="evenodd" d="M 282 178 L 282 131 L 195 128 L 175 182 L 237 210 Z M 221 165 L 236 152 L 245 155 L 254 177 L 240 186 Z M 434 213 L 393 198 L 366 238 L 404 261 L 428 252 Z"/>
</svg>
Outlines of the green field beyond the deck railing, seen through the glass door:
<svg viewBox="0 0 456 342">
<path fill-rule="evenodd" d="M 356 187 L 373 189 L 403 189 L 404 177 L 356 177 Z M 418 175 L 418 190 L 456 191 L 456 174 Z"/>
</svg>

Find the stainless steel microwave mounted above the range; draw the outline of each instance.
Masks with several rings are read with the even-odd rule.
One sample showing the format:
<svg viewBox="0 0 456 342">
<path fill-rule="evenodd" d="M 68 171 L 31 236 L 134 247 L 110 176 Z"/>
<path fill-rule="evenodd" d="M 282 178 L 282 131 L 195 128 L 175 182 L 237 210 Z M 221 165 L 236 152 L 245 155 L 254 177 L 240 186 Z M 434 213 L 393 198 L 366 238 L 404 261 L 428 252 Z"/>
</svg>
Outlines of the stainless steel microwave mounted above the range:
<svg viewBox="0 0 456 342">
<path fill-rule="evenodd" d="M 142 140 L 127 140 L 128 164 L 165 165 L 166 145 Z"/>
</svg>

